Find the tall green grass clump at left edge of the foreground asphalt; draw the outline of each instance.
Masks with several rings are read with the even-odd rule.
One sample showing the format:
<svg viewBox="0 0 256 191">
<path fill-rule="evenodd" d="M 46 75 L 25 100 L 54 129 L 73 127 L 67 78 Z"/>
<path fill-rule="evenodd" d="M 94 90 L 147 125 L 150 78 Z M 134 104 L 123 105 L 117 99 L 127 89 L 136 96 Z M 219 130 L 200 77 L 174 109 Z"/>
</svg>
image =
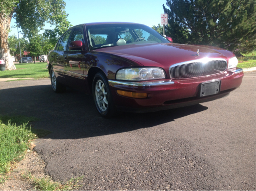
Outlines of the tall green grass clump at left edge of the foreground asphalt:
<svg viewBox="0 0 256 191">
<path fill-rule="evenodd" d="M 30 122 L 38 120 L 35 117 L 0 115 L 0 184 L 6 180 L 5 175 L 12 165 L 24 157 L 29 141 L 51 133 L 30 127 Z"/>
</svg>

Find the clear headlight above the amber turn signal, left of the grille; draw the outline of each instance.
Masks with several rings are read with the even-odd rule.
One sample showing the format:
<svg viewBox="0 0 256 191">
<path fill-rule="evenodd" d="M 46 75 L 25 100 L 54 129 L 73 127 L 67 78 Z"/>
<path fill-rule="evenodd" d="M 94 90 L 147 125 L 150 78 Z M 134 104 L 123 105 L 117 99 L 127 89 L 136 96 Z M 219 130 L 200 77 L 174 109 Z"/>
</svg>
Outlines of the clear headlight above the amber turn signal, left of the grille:
<svg viewBox="0 0 256 191">
<path fill-rule="evenodd" d="M 144 81 L 165 79 L 164 70 L 160 68 L 126 68 L 116 74 L 117 80 Z"/>
</svg>

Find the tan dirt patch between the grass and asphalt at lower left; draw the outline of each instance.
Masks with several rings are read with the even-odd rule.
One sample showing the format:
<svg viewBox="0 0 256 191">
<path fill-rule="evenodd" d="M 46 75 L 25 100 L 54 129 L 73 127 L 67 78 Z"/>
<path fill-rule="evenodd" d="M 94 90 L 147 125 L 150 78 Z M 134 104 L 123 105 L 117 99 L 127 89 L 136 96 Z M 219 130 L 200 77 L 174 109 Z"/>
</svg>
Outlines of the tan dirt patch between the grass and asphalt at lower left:
<svg viewBox="0 0 256 191">
<path fill-rule="evenodd" d="M 36 152 L 27 152 L 16 168 L 8 173 L 8 180 L 0 185 L 0 190 L 33 190 L 33 185 L 23 177 L 27 171 L 35 177 L 45 177 L 46 164 Z"/>
</svg>

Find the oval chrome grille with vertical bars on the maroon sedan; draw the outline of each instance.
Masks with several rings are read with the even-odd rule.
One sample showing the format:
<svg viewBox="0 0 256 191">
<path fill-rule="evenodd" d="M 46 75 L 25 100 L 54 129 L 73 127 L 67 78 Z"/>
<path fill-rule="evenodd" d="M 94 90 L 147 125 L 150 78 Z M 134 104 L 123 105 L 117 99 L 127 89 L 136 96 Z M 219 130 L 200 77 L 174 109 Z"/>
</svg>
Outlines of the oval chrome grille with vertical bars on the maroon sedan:
<svg viewBox="0 0 256 191">
<path fill-rule="evenodd" d="M 225 59 L 198 59 L 174 64 L 170 67 L 172 79 L 189 79 L 222 73 L 227 68 Z"/>
</svg>

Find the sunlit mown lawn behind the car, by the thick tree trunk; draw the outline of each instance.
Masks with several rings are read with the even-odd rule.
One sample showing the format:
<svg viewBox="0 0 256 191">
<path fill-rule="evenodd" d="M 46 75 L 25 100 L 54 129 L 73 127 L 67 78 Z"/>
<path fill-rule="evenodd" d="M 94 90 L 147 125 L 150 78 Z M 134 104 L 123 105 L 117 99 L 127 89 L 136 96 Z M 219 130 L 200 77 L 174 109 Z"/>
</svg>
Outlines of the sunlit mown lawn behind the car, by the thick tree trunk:
<svg viewBox="0 0 256 191">
<path fill-rule="evenodd" d="M 16 70 L 0 71 L 0 78 L 48 78 L 46 62 L 15 64 Z"/>
</svg>

